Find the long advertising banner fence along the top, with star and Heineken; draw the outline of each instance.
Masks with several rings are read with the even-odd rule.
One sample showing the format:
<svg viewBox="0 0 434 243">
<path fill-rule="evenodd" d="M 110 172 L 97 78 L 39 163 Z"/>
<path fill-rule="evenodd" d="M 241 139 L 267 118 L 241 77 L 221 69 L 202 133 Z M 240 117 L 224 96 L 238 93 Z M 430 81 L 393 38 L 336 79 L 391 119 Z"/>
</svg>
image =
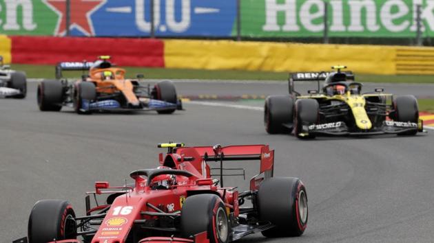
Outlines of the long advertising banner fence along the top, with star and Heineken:
<svg viewBox="0 0 434 243">
<path fill-rule="evenodd" d="M 0 10 L 7 35 L 404 45 L 434 35 L 431 0 L 4 0 Z"/>
</svg>

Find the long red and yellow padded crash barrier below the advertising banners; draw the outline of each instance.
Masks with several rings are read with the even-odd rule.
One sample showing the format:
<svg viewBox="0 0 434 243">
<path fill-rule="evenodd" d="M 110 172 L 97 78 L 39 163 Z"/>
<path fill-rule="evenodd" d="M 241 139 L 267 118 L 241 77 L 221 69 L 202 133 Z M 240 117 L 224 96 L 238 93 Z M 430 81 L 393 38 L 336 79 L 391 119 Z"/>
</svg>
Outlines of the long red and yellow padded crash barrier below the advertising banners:
<svg viewBox="0 0 434 243">
<path fill-rule="evenodd" d="M 0 54 L 17 64 L 55 65 L 110 55 L 117 65 L 133 67 L 291 72 L 347 65 L 358 73 L 434 74 L 434 47 L 0 36 Z"/>
</svg>

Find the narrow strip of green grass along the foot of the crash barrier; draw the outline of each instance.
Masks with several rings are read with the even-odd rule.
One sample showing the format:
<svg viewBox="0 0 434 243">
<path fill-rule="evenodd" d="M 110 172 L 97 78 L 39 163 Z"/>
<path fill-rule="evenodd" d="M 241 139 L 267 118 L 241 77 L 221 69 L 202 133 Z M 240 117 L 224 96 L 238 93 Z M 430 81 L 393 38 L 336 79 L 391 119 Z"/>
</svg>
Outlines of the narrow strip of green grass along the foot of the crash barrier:
<svg viewBox="0 0 434 243">
<path fill-rule="evenodd" d="M 54 66 L 52 65 L 12 65 L 12 69 L 22 70 L 29 78 L 54 78 Z M 200 80 L 281 80 L 288 79 L 287 72 L 271 71 L 239 71 L 239 70 L 196 70 L 196 69 L 158 69 L 144 67 L 125 67 L 127 76 L 134 78 L 136 74 L 143 73 L 145 78 L 158 79 L 200 79 Z M 77 78 L 81 72 L 65 72 L 67 78 Z M 434 83 L 434 76 L 382 76 L 359 74 L 358 82 L 397 82 L 397 83 Z"/>
</svg>

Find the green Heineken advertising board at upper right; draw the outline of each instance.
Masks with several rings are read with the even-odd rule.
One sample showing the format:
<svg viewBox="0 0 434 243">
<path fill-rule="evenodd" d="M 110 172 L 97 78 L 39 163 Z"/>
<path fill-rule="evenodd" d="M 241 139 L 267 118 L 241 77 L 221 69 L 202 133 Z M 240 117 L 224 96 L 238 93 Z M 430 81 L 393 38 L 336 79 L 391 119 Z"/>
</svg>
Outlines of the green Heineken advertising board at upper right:
<svg viewBox="0 0 434 243">
<path fill-rule="evenodd" d="M 327 0 L 329 36 L 415 37 L 417 5 L 424 36 L 434 34 L 434 1 Z M 241 0 L 241 34 L 251 37 L 320 37 L 323 0 Z"/>
</svg>

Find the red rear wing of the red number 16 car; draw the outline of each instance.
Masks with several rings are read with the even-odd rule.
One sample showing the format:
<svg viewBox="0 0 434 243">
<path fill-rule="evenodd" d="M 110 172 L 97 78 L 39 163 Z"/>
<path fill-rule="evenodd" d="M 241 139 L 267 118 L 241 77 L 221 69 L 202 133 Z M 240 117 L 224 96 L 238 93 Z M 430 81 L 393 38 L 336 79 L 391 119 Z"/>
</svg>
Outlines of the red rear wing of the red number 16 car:
<svg viewBox="0 0 434 243">
<path fill-rule="evenodd" d="M 200 146 L 192 147 L 198 152 L 203 161 L 220 162 L 220 185 L 223 187 L 223 161 L 260 161 L 259 174 L 251 178 L 250 189 L 258 189 L 262 181 L 273 176 L 274 150 L 270 150 L 268 145 L 240 145 L 240 146 Z M 183 154 L 183 150 L 189 148 L 176 148 L 177 154 Z M 191 148 L 190 148 L 191 149 Z M 232 169 L 231 169 L 232 170 Z"/>
</svg>

